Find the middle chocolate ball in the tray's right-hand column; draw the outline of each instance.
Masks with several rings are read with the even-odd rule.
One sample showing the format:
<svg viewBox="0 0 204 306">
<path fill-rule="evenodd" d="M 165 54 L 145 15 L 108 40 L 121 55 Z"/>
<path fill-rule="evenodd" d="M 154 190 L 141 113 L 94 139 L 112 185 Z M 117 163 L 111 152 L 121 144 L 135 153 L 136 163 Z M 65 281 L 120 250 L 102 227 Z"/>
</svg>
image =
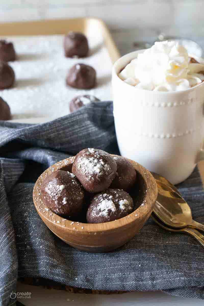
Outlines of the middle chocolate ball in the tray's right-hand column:
<svg viewBox="0 0 204 306">
<path fill-rule="evenodd" d="M 76 64 L 68 72 L 66 84 L 79 89 L 90 89 L 95 86 L 96 71 L 85 64 Z"/>
</svg>

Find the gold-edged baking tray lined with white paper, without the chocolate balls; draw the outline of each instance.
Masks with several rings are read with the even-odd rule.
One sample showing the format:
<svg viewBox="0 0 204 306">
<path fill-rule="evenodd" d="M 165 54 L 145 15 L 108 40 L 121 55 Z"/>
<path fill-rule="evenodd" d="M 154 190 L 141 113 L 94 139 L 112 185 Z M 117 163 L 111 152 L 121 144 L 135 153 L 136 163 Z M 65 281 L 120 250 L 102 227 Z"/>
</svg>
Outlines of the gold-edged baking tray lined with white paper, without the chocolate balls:
<svg viewBox="0 0 204 306">
<path fill-rule="evenodd" d="M 62 39 L 69 31 L 83 32 L 88 37 L 91 46 L 90 56 L 83 59 L 64 57 Z M 44 41 L 51 46 L 51 50 L 57 46 L 55 52 L 58 52 L 59 56 L 50 52 L 50 47 L 43 46 L 46 58 L 38 59 L 42 51 L 39 47 L 42 48 L 42 35 L 46 35 Z M 120 54 L 102 20 L 74 18 L 4 23 L 0 27 L 0 36 L 13 41 L 17 47 L 18 61 L 10 62 L 16 72 L 17 81 L 13 88 L 2 92 L 2 98 L 11 107 L 12 121 L 42 123 L 64 116 L 69 113 L 69 101 L 79 94 L 96 95 L 101 100 L 111 99 L 111 68 Z M 31 53 L 26 54 L 27 51 Z M 34 60 L 32 55 L 35 55 Z M 67 70 L 77 62 L 93 65 L 96 69 L 98 85 L 93 90 L 82 91 L 65 86 Z M 103 62 L 106 62 L 106 65 Z M 52 64 L 54 68 L 49 68 Z M 53 73 L 52 69 L 55 68 L 58 69 L 57 73 Z M 38 84 L 38 80 L 42 80 L 42 84 Z M 35 101 L 37 103 L 33 104 Z"/>
</svg>

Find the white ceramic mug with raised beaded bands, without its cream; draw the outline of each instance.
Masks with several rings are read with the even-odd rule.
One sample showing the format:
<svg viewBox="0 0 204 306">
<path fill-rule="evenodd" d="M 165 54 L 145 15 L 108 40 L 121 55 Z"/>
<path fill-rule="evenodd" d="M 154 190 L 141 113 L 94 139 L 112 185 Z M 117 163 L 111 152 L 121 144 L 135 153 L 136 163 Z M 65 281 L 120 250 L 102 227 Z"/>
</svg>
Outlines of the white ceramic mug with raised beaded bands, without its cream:
<svg viewBox="0 0 204 306">
<path fill-rule="evenodd" d="M 118 73 L 144 50 L 119 58 L 113 65 L 113 114 L 122 156 L 172 184 L 184 181 L 204 159 L 204 82 L 185 91 L 137 89 Z"/>
</svg>

